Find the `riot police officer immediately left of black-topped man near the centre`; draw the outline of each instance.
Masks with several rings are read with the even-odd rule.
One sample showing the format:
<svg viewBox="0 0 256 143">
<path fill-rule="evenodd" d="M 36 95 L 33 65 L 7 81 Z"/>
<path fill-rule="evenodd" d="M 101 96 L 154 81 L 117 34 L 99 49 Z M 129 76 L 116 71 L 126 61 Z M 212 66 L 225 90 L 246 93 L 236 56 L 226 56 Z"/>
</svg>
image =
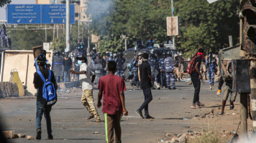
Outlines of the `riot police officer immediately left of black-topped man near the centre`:
<svg viewBox="0 0 256 143">
<path fill-rule="evenodd" d="M 134 53 L 134 58 L 132 59 L 132 82 L 131 82 L 131 86 L 134 85 L 134 82 L 136 82 L 136 87 L 140 87 L 140 81 L 139 81 L 139 77 L 138 77 L 138 62 L 139 62 L 139 58 L 136 56 L 136 54 Z"/>
</svg>

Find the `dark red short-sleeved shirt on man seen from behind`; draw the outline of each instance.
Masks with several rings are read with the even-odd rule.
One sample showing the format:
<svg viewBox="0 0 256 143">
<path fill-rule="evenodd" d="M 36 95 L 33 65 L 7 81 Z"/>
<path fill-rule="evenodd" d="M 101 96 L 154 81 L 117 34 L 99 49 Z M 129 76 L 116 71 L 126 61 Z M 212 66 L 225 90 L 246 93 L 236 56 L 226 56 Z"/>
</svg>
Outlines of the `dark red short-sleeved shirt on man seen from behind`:
<svg viewBox="0 0 256 143">
<path fill-rule="evenodd" d="M 127 90 L 124 79 L 116 75 L 106 75 L 99 79 L 100 91 L 103 91 L 102 112 L 106 114 L 122 114 L 123 108 L 120 93 Z"/>
</svg>

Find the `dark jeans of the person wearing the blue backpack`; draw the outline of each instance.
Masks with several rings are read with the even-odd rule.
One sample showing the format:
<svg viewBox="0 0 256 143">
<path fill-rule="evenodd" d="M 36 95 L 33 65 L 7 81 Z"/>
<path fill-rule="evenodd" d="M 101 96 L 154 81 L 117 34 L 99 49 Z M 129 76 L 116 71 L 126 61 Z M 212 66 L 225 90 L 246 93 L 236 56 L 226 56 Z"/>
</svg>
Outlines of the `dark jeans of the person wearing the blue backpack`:
<svg viewBox="0 0 256 143">
<path fill-rule="evenodd" d="M 44 114 L 48 135 L 52 134 L 52 123 L 50 121 L 50 111 L 51 110 L 52 110 L 51 106 L 44 107 L 42 102 L 37 101 L 36 129 L 41 129 L 42 114 Z"/>
</svg>

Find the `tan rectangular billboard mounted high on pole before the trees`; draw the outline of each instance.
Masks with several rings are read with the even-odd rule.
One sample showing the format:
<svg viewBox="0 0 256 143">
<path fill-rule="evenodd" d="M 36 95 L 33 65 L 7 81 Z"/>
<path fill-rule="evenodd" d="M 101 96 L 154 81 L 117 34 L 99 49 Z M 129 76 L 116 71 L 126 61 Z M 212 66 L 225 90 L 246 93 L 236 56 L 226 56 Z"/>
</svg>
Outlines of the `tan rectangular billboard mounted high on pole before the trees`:
<svg viewBox="0 0 256 143">
<path fill-rule="evenodd" d="M 167 36 L 178 36 L 178 16 L 166 17 Z"/>
</svg>

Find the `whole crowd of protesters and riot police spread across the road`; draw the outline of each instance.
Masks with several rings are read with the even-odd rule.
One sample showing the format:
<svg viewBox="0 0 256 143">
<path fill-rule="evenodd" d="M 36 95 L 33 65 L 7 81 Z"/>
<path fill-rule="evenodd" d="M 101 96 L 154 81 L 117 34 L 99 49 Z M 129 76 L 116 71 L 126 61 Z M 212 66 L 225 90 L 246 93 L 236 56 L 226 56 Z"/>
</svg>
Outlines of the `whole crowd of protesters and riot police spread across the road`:
<svg viewBox="0 0 256 143">
<path fill-rule="evenodd" d="M 193 67 L 194 70 L 191 72 L 191 82 L 195 89 L 193 102 L 191 105 L 192 109 L 204 106 L 199 100 L 201 81 L 204 78 L 209 79 L 210 89 L 214 89 L 214 75 L 217 72 L 217 60 L 213 57 L 211 53 L 208 54 L 206 60 L 204 61 L 204 49 L 200 48 L 193 55 Z M 81 83 L 82 96 L 81 103 L 89 112 L 87 119 L 96 119 L 96 122 L 101 122 L 99 117 L 99 112 L 96 107 L 101 107 L 101 99 L 103 97 L 103 107 L 102 112 L 104 113 L 104 122 L 106 129 L 106 142 L 121 142 L 121 127 L 120 119 L 122 115 L 128 115 L 127 109 L 124 103 L 124 91 L 126 91 L 125 79 L 124 79 L 124 59 L 122 53 L 113 54 L 111 52 L 106 52 L 106 54 L 101 57 L 100 53 L 93 49 L 91 53 L 86 54 L 86 50 L 83 48 L 82 44 L 78 44 L 76 51 L 73 54 L 64 53 L 60 55 L 60 51 L 55 51 L 52 59 L 52 71 L 50 71 L 49 61 L 46 59 L 46 51 L 42 50 L 40 56 L 35 59 L 36 71 L 34 74 L 34 84 L 37 89 L 37 114 L 36 114 L 36 129 L 37 137 L 36 139 L 41 139 L 41 120 L 42 114 L 45 114 L 45 119 L 47 122 L 47 134 L 48 139 L 53 139 L 52 129 L 51 129 L 51 119 L 50 111 L 52 109 L 52 104 L 48 105 L 45 99 L 45 95 L 50 96 L 52 92 L 46 90 L 47 82 L 52 84 L 52 88 L 57 90 L 57 83 L 60 81 L 70 82 L 72 80 L 77 80 Z M 96 79 L 96 72 L 93 72 L 93 68 L 96 65 L 100 65 L 101 69 L 106 73 L 100 77 L 98 82 L 98 102 L 95 106 L 93 99 L 93 85 Z M 226 62 L 227 66 L 227 78 L 219 79 L 219 87 L 217 95 L 221 92 L 221 87 L 226 82 L 225 95 L 222 100 L 221 112 L 219 114 L 224 114 L 224 107 L 231 94 L 230 98 L 230 109 L 234 108 L 234 100 L 237 93 L 232 92 L 232 68 L 231 63 Z M 223 69 L 226 70 L 226 69 Z M 155 54 L 154 50 L 150 53 L 139 52 L 134 54 L 132 59 L 132 73 L 133 78 L 131 80 L 131 85 L 136 85 L 142 89 L 142 93 L 145 97 L 145 101 L 142 105 L 135 111 L 142 119 L 155 119 L 149 114 L 149 104 L 152 101 L 151 89 L 176 89 L 175 81 L 183 79 L 184 71 L 184 59 L 182 54 L 172 54 L 172 52 L 163 52 L 160 56 Z M 71 76 L 70 76 L 71 74 Z M 45 92 L 47 91 L 47 92 Z M 48 93 L 49 92 L 49 93 Z M 57 96 L 55 97 L 57 101 Z M 142 111 L 145 111 L 144 115 Z M 115 139 L 114 139 L 115 134 Z"/>
</svg>

